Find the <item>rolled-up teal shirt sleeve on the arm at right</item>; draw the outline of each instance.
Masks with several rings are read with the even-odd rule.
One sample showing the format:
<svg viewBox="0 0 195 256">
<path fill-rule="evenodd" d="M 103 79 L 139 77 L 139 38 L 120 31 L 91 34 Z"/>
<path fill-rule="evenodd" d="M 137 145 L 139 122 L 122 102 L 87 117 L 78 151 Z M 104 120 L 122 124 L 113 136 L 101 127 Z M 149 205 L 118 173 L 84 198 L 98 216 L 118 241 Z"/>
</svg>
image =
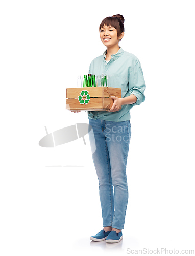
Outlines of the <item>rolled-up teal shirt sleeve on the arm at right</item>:
<svg viewBox="0 0 195 256">
<path fill-rule="evenodd" d="M 134 94 L 137 98 L 137 101 L 132 104 L 140 105 L 141 102 L 145 100 L 145 81 L 143 78 L 143 71 L 141 69 L 141 64 L 138 61 L 131 73 L 129 74 L 129 95 Z"/>
</svg>

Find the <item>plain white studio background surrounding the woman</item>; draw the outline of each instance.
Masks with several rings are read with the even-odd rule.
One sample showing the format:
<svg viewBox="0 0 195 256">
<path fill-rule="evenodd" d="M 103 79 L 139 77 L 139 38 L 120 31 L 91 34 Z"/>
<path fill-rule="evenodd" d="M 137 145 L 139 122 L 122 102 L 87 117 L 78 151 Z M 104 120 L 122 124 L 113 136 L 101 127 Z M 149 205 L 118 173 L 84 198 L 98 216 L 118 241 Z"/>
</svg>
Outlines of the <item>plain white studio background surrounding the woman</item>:
<svg viewBox="0 0 195 256">
<path fill-rule="evenodd" d="M 1 1 L 2 256 L 195 249 L 193 4 Z M 87 112 L 65 110 L 65 89 L 105 51 L 99 25 L 114 14 L 125 18 L 120 46 L 140 60 L 147 90 L 131 110 L 124 239 L 109 245 L 89 240 L 103 224 L 88 137 L 38 142 L 44 126 L 88 123 Z"/>
</svg>

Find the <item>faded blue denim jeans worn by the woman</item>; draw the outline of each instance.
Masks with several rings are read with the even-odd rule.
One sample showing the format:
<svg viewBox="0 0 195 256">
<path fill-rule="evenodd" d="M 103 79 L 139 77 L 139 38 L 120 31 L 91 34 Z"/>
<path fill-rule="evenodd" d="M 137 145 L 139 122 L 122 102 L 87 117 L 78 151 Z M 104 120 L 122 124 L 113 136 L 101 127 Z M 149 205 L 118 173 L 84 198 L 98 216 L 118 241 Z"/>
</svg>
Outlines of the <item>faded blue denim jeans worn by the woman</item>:
<svg viewBox="0 0 195 256">
<path fill-rule="evenodd" d="M 126 165 L 131 138 L 130 121 L 113 122 L 89 119 L 94 138 L 89 134 L 93 163 L 99 180 L 103 226 L 124 229 L 128 202 Z M 114 191 L 113 191 L 114 187 Z"/>
</svg>

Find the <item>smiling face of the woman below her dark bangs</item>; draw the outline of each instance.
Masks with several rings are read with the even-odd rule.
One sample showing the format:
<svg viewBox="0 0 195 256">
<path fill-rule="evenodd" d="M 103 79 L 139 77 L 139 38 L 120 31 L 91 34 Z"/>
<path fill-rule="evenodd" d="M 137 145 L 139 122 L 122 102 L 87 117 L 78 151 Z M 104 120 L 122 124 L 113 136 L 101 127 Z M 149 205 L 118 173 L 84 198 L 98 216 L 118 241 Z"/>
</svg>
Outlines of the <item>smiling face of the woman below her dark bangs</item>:
<svg viewBox="0 0 195 256">
<path fill-rule="evenodd" d="M 120 39 L 124 36 L 124 32 L 118 37 L 117 30 L 114 27 L 104 25 L 100 29 L 100 39 L 106 47 L 118 45 Z"/>
</svg>

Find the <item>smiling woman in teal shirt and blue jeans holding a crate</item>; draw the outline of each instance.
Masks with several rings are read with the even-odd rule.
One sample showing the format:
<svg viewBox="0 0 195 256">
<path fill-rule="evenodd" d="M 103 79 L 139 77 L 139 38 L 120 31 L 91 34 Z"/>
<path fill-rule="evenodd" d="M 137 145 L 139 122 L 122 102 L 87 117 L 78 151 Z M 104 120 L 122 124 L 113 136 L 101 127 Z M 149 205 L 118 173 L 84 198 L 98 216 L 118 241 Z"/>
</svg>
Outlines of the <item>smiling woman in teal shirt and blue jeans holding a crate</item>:
<svg viewBox="0 0 195 256">
<path fill-rule="evenodd" d="M 118 45 L 124 36 L 124 17 L 119 14 L 106 17 L 99 30 L 107 49 L 91 62 L 89 73 L 108 75 L 110 87 L 121 88 L 121 98 L 111 96 L 114 102 L 108 111 L 88 112 L 95 137 L 96 151 L 92 158 L 99 179 L 104 227 L 90 239 L 116 243 L 123 239 L 121 230 L 128 202 L 126 164 L 131 137 L 130 109 L 145 100 L 145 81 L 138 58 Z M 89 139 L 93 147 L 90 133 Z"/>
</svg>

